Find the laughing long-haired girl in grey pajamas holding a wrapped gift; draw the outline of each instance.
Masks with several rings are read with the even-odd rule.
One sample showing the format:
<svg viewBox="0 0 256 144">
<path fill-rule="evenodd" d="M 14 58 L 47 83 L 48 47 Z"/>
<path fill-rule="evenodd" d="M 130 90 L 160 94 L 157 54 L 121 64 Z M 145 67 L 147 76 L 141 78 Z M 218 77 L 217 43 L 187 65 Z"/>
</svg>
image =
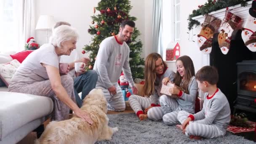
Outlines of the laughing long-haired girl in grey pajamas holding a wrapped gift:
<svg viewBox="0 0 256 144">
<path fill-rule="evenodd" d="M 176 61 L 177 72 L 174 78 L 174 87 L 170 93 L 178 96 L 177 99 L 166 95 L 160 97 L 160 105 L 163 110 L 163 122 L 167 125 L 179 123 L 177 119 L 180 110 L 195 113 L 195 99 L 197 95 L 197 82 L 193 61 L 189 56 L 181 56 Z M 180 88 L 184 89 L 183 91 Z M 182 98 L 182 99 L 179 99 Z"/>
</svg>

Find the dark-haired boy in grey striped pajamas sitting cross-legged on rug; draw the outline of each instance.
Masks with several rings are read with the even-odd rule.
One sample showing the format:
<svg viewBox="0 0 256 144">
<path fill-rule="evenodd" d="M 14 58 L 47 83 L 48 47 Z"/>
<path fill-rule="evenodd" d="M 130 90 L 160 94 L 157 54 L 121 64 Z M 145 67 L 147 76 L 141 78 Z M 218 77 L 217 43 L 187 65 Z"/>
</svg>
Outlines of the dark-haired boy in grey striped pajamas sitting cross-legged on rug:
<svg viewBox="0 0 256 144">
<path fill-rule="evenodd" d="M 215 138 L 224 136 L 230 121 L 229 102 L 217 88 L 219 76 L 216 68 L 205 66 L 196 74 L 198 88 L 207 92 L 203 109 L 192 115 L 180 111 L 178 120 L 182 125 L 177 125 L 190 139 Z"/>
</svg>

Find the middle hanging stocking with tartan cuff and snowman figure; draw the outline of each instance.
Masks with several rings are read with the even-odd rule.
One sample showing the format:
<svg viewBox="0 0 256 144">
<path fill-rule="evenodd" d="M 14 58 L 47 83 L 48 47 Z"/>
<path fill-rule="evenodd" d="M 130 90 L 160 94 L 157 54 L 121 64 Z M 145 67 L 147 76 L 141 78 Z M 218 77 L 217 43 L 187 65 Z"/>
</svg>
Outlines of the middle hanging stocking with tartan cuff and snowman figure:
<svg viewBox="0 0 256 144">
<path fill-rule="evenodd" d="M 223 22 L 221 24 L 221 32 L 218 35 L 218 43 L 223 54 L 227 54 L 230 48 L 232 32 L 242 19 L 230 11 L 226 11 Z"/>
</svg>

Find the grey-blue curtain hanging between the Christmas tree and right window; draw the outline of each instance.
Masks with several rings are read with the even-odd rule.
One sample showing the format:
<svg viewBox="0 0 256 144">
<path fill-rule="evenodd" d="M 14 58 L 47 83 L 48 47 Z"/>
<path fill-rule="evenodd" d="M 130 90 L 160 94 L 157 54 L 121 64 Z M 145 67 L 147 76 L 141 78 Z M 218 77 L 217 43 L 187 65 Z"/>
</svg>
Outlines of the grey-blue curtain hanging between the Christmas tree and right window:
<svg viewBox="0 0 256 144">
<path fill-rule="evenodd" d="M 163 0 L 154 0 L 153 2 L 153 52 L 157 52 L 163 56 L 163 40 L 162 40 L 162 11 Z"/>
</svg>

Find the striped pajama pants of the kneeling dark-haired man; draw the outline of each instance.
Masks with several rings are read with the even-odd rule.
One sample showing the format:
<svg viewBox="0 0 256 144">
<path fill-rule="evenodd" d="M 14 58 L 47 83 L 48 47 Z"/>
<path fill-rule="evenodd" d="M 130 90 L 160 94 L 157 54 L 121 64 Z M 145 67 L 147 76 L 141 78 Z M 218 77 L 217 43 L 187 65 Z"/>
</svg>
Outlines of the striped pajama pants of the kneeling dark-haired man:
<svg viewBox="0 0 256 144">
<path fill-rule="evenodd" d="M 96 88 L 102 89 L 104 96 L 108 102 L 108 110 L 117 112 L 122 112 L 125 110 L 125 100 L 123 99 L 123 93 L 121 91 L 120 86 L 117 83 L 115 84 L 115 88 L 117 90 L 117 93 L 115 95 L 110 95 L 108 89 L 98 85 L 98 83 L 96 84 Z"/>
</svg>

